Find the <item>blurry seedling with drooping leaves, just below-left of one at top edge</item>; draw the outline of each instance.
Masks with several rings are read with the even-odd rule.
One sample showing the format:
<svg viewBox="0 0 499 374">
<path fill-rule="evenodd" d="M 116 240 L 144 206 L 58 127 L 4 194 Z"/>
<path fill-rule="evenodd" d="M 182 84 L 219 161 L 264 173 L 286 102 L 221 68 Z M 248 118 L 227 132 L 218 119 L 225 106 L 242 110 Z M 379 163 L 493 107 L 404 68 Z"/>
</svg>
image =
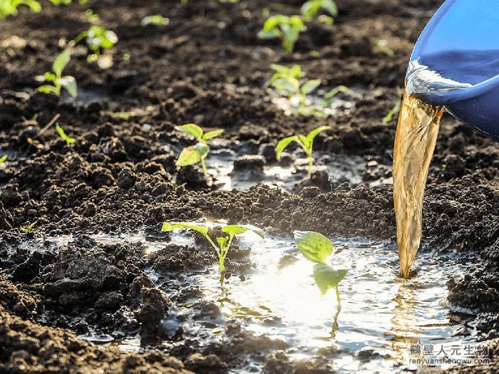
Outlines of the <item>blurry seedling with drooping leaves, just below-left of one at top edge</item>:
<svg viewBox="0 0 499 374">
<path fill-rule="evenodd" d="M 270 16 L 265 21 L 262 30 L 258 33 L 258 37 L 261 39 L 280 38 L 284 51 L 292 53 L 294 43 L 297 42 L 299 34 L 305 30 L 307 30 L 307 27 L 300 16 L 289 17 L 277 14 Z"/>
</svg>

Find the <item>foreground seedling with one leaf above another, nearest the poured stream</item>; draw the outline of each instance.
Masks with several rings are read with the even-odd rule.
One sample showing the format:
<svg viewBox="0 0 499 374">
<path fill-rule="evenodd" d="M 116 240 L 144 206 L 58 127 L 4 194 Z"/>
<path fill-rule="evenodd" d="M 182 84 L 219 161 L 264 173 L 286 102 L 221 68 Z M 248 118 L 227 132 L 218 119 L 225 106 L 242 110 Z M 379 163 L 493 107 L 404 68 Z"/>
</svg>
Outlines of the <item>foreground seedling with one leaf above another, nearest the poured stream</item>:
<svg viewBox="0 0 499 374">
<path fill-rule="evenodd" d="M 298 249 L 305 258 L 314 262 L 314 281 L 322 295 L 329 289 L 336 289 L 336 298 L 339 300 L 338 285 L 346 276 L 346 269 L 333 269 L 326 264 L 326 259 L 333 252 L 333 244 L 324 235 L 318 232 L 294 232 Z"/>
</svg>

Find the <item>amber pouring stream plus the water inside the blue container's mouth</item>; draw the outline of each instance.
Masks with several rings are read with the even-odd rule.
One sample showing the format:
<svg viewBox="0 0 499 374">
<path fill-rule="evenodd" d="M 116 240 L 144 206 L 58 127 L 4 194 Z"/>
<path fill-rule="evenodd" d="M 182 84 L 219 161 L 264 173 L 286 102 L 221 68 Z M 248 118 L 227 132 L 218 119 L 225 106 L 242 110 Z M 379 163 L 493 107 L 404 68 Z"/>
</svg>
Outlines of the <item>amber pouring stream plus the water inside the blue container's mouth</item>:
<svg viewBox="0 0 499 374">
<path fill-rule="evenodd" d="M 424 188 L 445 110 L 443 105 L 431 105 L 431 98 L 449 90 L 467 90 L 498 74 L 498 50 L 444 51 L 409 63 L 393 149 L 393 200 L 404 278 L 421 242 Z"/>
</svg>

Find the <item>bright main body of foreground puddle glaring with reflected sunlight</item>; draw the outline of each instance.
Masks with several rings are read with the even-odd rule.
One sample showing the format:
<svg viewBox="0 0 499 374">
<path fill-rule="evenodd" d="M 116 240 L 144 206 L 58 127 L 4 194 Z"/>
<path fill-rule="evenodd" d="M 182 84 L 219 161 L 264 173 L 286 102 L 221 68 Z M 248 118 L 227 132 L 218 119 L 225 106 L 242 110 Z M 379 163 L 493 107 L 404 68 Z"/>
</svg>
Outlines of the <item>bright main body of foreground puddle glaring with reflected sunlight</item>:
<svg viewBox="0 0 499 374">
<path fill-rule="evenodd" d="M 319 295 L 312 262 L 289 239 L 249 241 L 254 272 L 230 276 L 222 288 L 216 267 L 209 274 L 192 274 L 190 281 L 219 305 L 226 319 L 286 342 L 294 358 L 313 358 L 320 348 L 338 345 L 345 354 L 332 361 L 341 373 L 397 371 L 408 363 L 413 345 L 465 343 L 457 335 L 462 326 L 451 324 L 444 303 L 448 276 L 465 265 L 423 253 L 416 261 L 416 276 L 400 279 L 392 244 L 334 242 L 329 264 L 349 269 L 339 285 L 341 308 L 334 291 Z M 356 359 L 361 350 L 373 350 L 372 358 Z"/>
</svg>

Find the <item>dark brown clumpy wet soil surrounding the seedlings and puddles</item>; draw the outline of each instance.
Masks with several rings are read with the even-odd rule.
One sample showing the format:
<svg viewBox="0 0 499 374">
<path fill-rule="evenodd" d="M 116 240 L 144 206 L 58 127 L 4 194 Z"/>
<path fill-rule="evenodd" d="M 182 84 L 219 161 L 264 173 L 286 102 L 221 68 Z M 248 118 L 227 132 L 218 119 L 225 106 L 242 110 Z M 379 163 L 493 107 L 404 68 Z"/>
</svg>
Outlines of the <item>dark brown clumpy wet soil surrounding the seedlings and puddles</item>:
<svg viewBox="0 0 499 374">
<path fill-rule="evenodd" d="M 140 244 L 101 245 L 89 234 L 140 229 L 153 241 L 165 219 L 207 218 L 252 223 L 282 237 L 313 229 L 394 241 L 389 178 L 396 118 L 387 124 L 382 118 L 397 100 L 413 43 L 440 3 L 338 0 L 334 25 L 309 24 L 292 55 L 256 37 L 268 5 L 260 0 L 190 0 L 186 6 L 176 0 L 101 0 L 86 7 L 47 5 L 40 14 L 22 11 L 1 21 L 0 147 L 9 159 L 0 165 L 0 371 L 36 372 L 50 365 L 52 372 L 93 373 L 98 367 L 108 373 L 225 373 L 264 346 L 273 352 L 268 373 L 334 372 L 320 359 L 290 361 L 278 342 L 237 324 L 230 326 L 225 347 L 171 350 L 183 363 L 160 349 L 120 353 L 113 345 L 77 339 L 116 330 L 161 341 L 171 301 L 155 289 L 149 269 L 182 274 L 216 261 L 207 248 L 192 253 L 173 243 L 145 256 Z M 289 7 L 290 14 L 302 1 L 275 4 Z M 87 27 L 83 11 L 89 7 L 118 34 L 113 68 L 102 71 L 76 53 L 65 73 L 76 77 L 78 98 L 36 93 L 34 77 L 48 71 L 64 39 Z M 170 24 L 141 26 L 150 14 L 168 16 Z M 393 58 L 376 48 L 379 39 L 388 41 Z M 361 96 L 351 113 L 286 115 L 264 87 L 271 63 L 299 63 L 325 88 L 347 85 Z M 56 114 L 76 137 L 74 145 L 53 128 L 41 131 Z M 335 160 L 355 160 L 358 175 L 317 172 L 307 182 L 298 175 L 285 189 L 259 184 L 224 190 L 216 180 L 207 186 L 199 168 L 175 167 L 175 156 L 192 144 L 175 125 L 187 122 L 223 128 L 222 155 L 263 155 L 237 162 L 236 168 L 254 173 L 243 181 L 258 180 L 262 164 L 279 166 L 269 150 L 281 137 L 319 125 L 332 128 L 317 138 L 317 155 L 326 157 L 319 164 L 333 165 L 327 170 L 334 174 L 334 167 L 341 169 Z M 499 352 L 492 340 L 499 337 L 498 154 L 494 142 L 444 115 L 423 207 L 423 251 L 475 254 L 475 264 L 448 281 L 448 301 L 476 315 L 473 327 L 491 355 Z M 280 166 L 297 166 L 299 157 L 291 148 L 283 157 L 288 165 Z M 34 221 L 33 232 L 25 234 L 23 227 Z M 66 234 L 73 237 L 62 246 L 51 239 Z M 249 260 L 240 256 L 234 261 L 245 266 Z M 208 304 L 199 309 L 200 315 L 215 313 Z M 452 372 L 489 373 L 498 370 L 494 362 Z"/>
</svg>

